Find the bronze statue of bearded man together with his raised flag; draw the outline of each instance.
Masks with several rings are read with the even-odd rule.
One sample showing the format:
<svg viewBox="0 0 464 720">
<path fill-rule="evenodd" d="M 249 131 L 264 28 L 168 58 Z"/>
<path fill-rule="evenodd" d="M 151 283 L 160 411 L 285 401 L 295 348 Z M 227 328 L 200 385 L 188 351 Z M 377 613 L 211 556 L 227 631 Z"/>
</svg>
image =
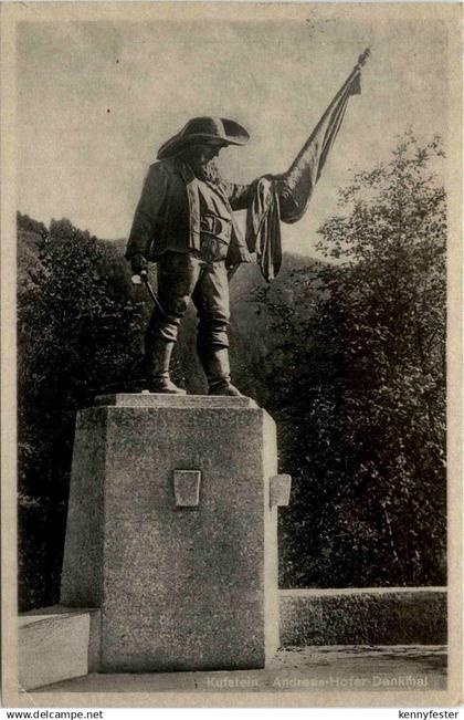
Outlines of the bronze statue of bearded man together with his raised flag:
<svg viewBox="0 0 464 720">
<path fill-rule="evenodd" d="M 147 281 L 148 261 L 158 264 L 158 298 L 145 335 L 145 372 L 152 393 L 184 394 L 169 377 L 182 315 L 190 301 L 198 312 L 197 352 L 210 395 L 240 396 L 229 364 L 229 280 L 251 253 L 264 278 L 278 272 L 281 220 L 297 221 L 331 148 L 350 95 L 360 92 L 365 51 L 284 175 L 235 185 L 219 173 L 223 147 L 243 146 L 250 136 L 232 119 L 196 117 L 159 149 L 138 202 L 126 258 Z M 242 237 L 233 212 L 245 209 Z"/>
</svg>

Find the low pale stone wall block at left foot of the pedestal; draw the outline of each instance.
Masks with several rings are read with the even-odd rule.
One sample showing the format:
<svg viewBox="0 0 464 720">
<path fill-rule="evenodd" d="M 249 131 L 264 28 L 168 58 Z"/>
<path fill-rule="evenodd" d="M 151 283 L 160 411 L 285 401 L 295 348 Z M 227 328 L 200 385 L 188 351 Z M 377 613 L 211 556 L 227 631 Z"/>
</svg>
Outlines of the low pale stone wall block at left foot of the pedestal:
<svg viewBox="0 0 464 720">
<path fill-rule="evenodd" d="M 21 615 L 18 629 L 20 689 L 33 690 L 92 671 L 96 665 L 97 616 L 98 611 L 62 606 Z"/>
</svg>

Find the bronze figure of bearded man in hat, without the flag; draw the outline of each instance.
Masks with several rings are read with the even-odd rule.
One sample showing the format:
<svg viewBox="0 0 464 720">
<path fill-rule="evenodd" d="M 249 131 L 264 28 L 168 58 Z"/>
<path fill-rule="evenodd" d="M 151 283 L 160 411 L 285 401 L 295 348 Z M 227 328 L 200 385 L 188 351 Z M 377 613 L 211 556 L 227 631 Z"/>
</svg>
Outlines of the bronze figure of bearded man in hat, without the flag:
<svg viewBox="0 0 464 720">
<path fill-rule="evenodd" d="M 230 379 L 228 268 L 251 261 L 233 217 L 247 208 L 250 186 L 224 181 L 215 158 L 222 147 L 247 139 L 233 121 L 193 118 L 162 145 L 145 180 L 126 258 L 136 273 L 148 260 L 158 263 L 160 307 L 155 306 L 145 335 L 146 379 L 154 393 L 183 393 L 169 378 L 169 362 L 192 300 L 209 394 L 240 395 Z"/>
</svg>

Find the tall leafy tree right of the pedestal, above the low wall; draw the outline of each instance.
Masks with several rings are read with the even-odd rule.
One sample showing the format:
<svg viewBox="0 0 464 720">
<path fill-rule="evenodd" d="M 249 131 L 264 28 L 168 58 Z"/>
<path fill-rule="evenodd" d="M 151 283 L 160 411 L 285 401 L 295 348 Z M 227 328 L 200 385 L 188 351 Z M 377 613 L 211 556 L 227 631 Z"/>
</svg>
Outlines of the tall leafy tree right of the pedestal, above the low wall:
<svg viewBox="0 0 464 720">
<path fill-rule="evenodd" d="M 286 585 L 445 582 L 442 156 L 439 138 L 402 137 L 319 229 L 336 263 L 294 273 L 293 307 L 259 298 L 287 366 L 274 408 L 296 481 Z"/>
</svg>

